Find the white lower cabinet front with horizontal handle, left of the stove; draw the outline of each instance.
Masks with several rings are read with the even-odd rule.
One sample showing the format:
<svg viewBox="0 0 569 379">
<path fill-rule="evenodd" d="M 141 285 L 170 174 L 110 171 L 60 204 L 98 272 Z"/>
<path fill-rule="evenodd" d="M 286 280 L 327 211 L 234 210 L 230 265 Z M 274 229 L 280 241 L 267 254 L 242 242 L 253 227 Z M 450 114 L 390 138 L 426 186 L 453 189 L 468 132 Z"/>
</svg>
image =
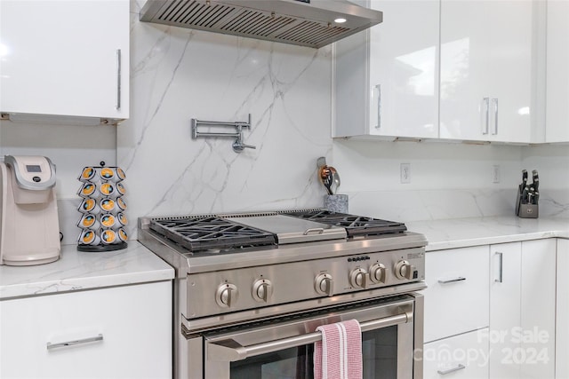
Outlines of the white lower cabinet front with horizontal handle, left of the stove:
<svg viewBox="0 0 569 379">
<path fill-rule="evenodd" d="M 0 302 L 0 377 L 171 378 L 172 283 Z"/>
</svg>

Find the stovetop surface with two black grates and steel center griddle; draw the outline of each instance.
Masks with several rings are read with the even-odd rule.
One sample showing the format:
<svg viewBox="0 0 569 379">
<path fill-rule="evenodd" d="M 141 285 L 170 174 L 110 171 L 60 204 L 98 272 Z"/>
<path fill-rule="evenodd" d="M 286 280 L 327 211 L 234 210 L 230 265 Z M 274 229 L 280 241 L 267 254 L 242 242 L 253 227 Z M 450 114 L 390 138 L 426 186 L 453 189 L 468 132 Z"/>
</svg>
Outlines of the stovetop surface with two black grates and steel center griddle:
<svg viewBox="0 0 569 379">
<path fill-rule="evenodd" d="M 154 217 L 149 219 L 149 229 L 191 252 L 374 238 L 406 231 L 403 223 L 326 209 Z"/>
</svg>

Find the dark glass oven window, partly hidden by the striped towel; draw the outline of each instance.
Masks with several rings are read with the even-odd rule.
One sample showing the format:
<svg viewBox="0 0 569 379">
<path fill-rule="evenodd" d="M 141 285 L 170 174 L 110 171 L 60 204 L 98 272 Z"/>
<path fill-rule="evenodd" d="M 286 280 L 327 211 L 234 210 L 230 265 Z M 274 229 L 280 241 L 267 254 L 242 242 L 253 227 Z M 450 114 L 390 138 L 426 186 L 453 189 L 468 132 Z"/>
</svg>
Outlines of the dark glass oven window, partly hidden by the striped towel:
<svg viewBox="0 0 569 379">
<path fill-rule="evenodd" d="M 231 379 L 313 379 L 312 344 L 231 363 Z M 364 379 L 397 378 L 397 326 L 362 335 Z"/>
</svg>

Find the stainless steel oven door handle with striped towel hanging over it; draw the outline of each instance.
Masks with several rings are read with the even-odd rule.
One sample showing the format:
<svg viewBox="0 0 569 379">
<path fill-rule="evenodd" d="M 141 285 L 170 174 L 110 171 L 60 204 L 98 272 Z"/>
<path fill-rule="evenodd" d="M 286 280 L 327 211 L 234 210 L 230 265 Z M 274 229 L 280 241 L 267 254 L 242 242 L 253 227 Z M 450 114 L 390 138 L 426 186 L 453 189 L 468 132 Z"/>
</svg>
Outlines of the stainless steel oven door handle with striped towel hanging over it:
<svg viewBox="0 0 569 379">
<path fill-rule="evenodd" d="M 363 332 L 370 330 L 393 327 L 399 324 L 406 324 L 413 321 L 413 312 L 402 312 L 394 316 L 385 317 L 378 320 L 366 321 L 360 324 Z M 281 351 L 309 343 L 316 343 L 322 340 L 322 333 L 313 332 L 301 336 L 283 338 L 267 343 L 257 343 L 251 346 L 243 346 L 236 340 L 228 338 L 221 341 L 207 343 L 207 359 L 216 361 L 235 362 L 251 357 L 255 357 L 270 352 Z"/>
</svg>

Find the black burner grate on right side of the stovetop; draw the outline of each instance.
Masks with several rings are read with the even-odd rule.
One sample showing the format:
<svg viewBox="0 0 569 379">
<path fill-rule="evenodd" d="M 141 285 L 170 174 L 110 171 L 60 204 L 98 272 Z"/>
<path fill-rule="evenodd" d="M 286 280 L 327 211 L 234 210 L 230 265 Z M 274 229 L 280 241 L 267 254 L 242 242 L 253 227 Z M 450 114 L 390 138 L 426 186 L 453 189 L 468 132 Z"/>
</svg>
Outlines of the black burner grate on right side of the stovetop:
<svg viewBox="0 0 569 379">
<path fill-rule="evenodd" d="M 403 233 L 407 227 L 403 223 L 381 220 L 373 217 L 363 217 L 336 213 L 329 210 L 300 210 L 285 212 L 287 216 L 299 217 L 317 221 L 322 224 L 341 226 L 346 229 L 349 237 L 368 237 L 386 233 Z"/>
</svg>

